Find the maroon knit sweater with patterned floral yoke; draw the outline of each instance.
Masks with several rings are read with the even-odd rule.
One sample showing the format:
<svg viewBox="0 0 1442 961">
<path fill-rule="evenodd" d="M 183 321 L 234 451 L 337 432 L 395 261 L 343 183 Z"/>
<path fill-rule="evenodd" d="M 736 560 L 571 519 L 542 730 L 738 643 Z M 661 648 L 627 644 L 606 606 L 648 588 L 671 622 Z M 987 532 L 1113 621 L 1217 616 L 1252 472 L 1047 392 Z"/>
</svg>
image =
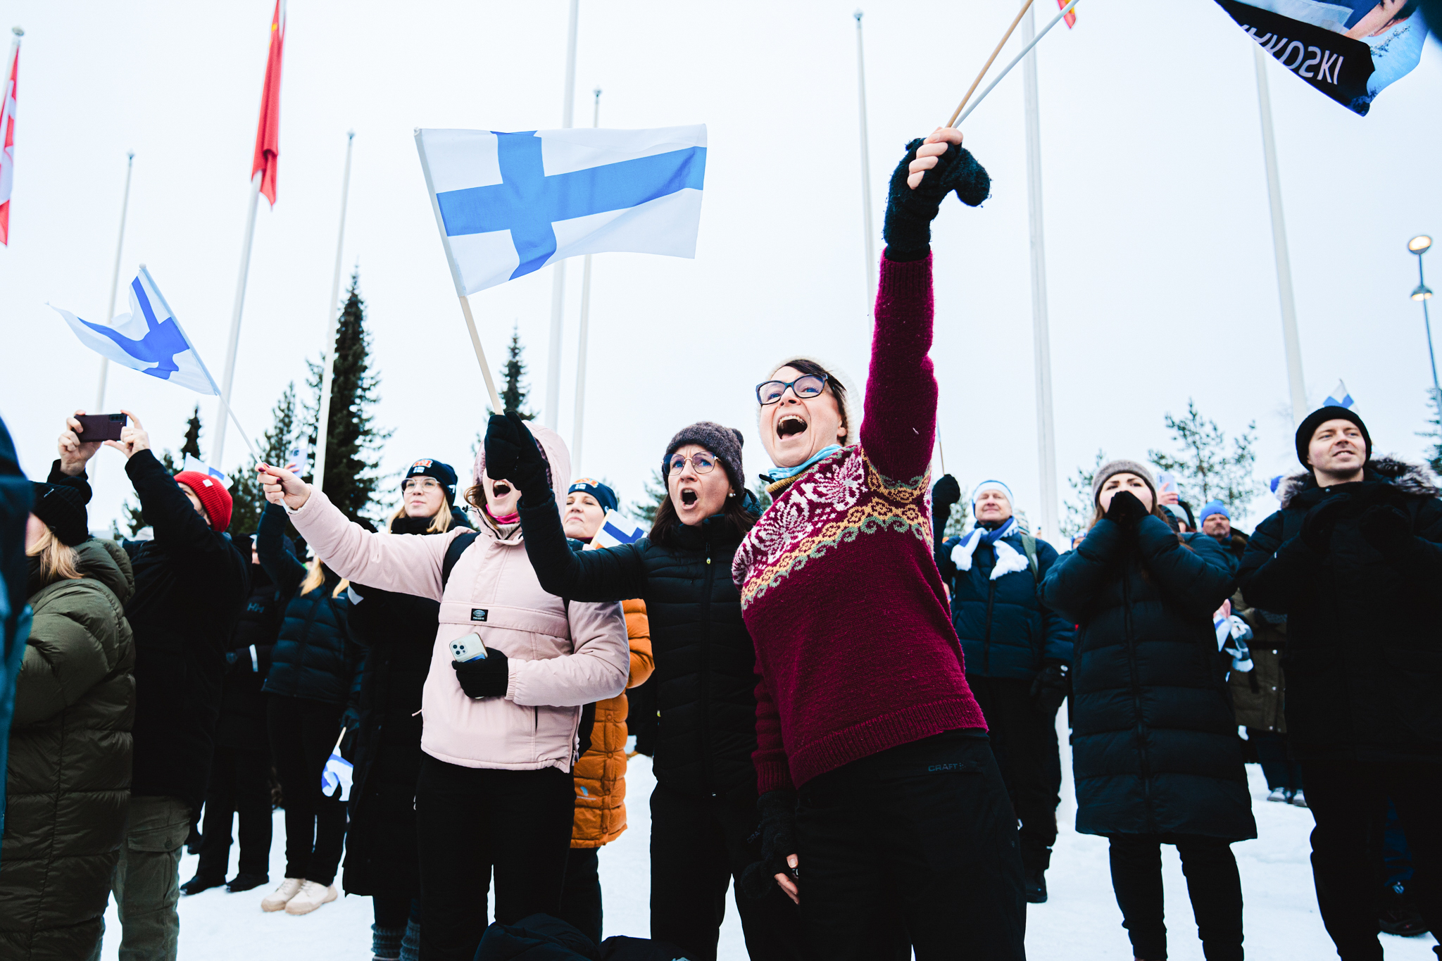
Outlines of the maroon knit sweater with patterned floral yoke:
<svg viewBox="0 0 1442 961">
<path fill-rule="evenodd" d="M 986 726 L 932 558 L 930 349 L 932 258 L 883 256 L 861 444 L 773 491 L 735 553 L 761 679 L 751 756 L 763 792 Z"/>
</svg>

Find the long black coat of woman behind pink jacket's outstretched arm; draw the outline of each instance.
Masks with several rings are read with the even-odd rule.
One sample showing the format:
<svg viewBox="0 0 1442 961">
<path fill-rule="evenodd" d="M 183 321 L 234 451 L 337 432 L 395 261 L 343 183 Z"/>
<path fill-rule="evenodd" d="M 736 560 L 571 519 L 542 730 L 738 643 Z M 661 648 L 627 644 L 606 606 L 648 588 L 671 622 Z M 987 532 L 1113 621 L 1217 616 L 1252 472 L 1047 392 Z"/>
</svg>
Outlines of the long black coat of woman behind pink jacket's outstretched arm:
<svg viewBox="0 0 1442 961">
<path fill-rule="evenodd" d="M 427 535 L 430 517 L 397 517 L 394 535 Z M 470 527 L 459 510 L 451 527 Z M 352 584 L 350 658 L 359 660 L 350 751 L 350 824 L 343 885 L 350 895 L 418 898 L 415 782 L 421 772 L 421 693 L 440 601 Z"/>
</svg>

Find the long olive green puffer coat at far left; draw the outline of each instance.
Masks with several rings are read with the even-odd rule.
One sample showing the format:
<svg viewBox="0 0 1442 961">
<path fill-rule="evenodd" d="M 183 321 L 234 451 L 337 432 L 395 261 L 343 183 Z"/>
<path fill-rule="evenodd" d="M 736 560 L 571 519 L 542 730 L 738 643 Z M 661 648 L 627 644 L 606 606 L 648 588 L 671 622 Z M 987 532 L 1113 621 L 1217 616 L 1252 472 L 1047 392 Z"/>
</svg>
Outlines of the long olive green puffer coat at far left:
<svg viewBox="0 0 1442 961">
<path fill-rule="evenodd" d="M 81 579 L 39 582 L 6 771 L 0 958 L 85 958 L 97 945 L 130 804 L 136 650 L 130 560 L 75 547 Z"/>
</svg>

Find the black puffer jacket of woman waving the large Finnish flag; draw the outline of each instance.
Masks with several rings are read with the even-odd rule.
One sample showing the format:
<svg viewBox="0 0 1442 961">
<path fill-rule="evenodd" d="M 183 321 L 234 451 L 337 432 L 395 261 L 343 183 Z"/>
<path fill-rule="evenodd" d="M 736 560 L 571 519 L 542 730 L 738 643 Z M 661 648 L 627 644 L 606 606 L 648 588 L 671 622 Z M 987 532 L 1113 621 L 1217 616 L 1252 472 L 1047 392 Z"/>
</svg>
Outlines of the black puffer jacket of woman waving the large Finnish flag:
<svg viewBox="0 0 1442 961">
<path fill-rule="evenodd" d="M 656 781 L 684 794 L 754 801 L 756 645 L 731 582 L 744 532 L 717 514 L 695 527 L 678 523 L 672 546 L 642 537 L 572 553 L 552 499 L 519 511 L 526 555 L 547 591 L 571 601 L 646 602 L 660 712 Z"/>
</svg>

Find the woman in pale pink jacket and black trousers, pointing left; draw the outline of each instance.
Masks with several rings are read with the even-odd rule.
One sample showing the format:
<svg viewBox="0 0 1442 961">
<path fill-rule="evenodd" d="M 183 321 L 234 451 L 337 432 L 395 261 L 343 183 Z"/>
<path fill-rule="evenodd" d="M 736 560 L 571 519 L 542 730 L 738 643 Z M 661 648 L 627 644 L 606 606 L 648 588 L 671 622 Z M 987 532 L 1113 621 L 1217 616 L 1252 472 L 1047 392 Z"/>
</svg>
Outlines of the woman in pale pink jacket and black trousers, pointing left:
<svg viewBox="0 0 1442 961">
<path fill-rule="evenodd" d="M 561 439 L 545 428 L 532 432 L 551 475 L 570 478 Z M 421 955 L 470 961 L 486 929 L 492 870 L 496 921 L 559 909 L 581 706 L 622 693 L 630 669 L 622 608 L 571 604 L 541 589 L 521 540 L 519 493 L 486 475 L 485 451 L 466 491 L 479 533 L 369 533 L 288 471 L 264 464 L 260 471 L 267 499 L 286 506 L 340 576 L 440 601 L 415 787 Z M 470 543 L 461 540 L 467 535 Z M 487 656 L 457 663 L 451 643 L 470 634 Z"/>
</svg>

